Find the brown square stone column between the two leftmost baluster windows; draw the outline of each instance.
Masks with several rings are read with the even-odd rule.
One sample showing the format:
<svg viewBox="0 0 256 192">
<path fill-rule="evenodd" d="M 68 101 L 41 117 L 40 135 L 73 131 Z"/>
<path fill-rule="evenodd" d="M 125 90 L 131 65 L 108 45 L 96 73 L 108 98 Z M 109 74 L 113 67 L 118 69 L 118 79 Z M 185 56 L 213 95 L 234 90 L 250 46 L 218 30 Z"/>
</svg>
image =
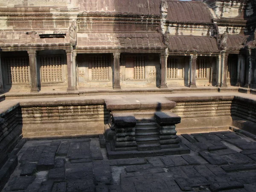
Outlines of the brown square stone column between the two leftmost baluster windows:
<svg viewBox="0 0 256 192">
<path fill-rule="evenodd" d="M 38 73 L 37 73 L 37 61 L 36 51 L 29 50 L 29 69 L 30 69 L 30 92 L 38 92 Z"/>
</svg>

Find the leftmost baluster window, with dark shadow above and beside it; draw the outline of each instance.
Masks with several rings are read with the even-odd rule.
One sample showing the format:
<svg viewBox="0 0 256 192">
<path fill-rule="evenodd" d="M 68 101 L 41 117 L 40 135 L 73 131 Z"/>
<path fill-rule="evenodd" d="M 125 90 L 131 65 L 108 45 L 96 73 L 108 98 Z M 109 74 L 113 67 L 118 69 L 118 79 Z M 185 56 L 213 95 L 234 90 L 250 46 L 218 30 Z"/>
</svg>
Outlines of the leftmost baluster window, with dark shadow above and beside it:
<svg viewBox="0 0 256 192">
<path fill-rule="evenodd" d="M 26 57 L 4 57 L 8 84 L 29 82 L 29 61 Z"/>
</svg>

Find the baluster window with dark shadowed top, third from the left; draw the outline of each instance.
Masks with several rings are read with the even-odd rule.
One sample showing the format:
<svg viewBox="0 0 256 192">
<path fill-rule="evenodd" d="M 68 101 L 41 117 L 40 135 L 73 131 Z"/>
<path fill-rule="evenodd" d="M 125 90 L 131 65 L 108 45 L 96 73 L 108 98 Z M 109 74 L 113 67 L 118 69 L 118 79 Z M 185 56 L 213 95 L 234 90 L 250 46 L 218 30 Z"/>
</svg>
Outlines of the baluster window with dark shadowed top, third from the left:
<svg viewBox="0 0 256 192">
<path fill-rule="evenodd" d="M 105 81 L 109 80 L 108 66 L 109 59 L 108 56 L 92 56 L 91 61 L 91 80 L 93 81 Z"/>
</svg>

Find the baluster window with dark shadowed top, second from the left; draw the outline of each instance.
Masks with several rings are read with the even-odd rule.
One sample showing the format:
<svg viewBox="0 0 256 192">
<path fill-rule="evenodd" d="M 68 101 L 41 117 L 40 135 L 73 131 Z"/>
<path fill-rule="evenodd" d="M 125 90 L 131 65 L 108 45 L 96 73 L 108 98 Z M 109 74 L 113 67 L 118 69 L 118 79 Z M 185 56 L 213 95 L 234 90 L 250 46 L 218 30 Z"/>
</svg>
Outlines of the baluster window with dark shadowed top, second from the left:
<svg viewBox="0 0 256 192">
<path fill-rule="evenodd" d="M 60 55 L 41 56 L 41 82 L 62 81 L 62 57 Z"/>
</svg>

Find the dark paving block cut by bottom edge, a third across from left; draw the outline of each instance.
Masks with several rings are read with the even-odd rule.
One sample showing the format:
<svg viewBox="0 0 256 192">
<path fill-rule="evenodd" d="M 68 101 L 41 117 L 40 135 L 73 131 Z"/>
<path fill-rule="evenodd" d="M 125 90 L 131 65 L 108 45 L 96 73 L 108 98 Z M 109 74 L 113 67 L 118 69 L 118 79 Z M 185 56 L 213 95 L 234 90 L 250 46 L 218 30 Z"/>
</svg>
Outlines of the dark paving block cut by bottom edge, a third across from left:
<svg viewBox="0 0 256 192">
<path fill-rule="evenodd" d="M 95 185 L 92 179 L 69 180 L 67 182 L 68 192 L 95 192 Z"/>
</svg>

